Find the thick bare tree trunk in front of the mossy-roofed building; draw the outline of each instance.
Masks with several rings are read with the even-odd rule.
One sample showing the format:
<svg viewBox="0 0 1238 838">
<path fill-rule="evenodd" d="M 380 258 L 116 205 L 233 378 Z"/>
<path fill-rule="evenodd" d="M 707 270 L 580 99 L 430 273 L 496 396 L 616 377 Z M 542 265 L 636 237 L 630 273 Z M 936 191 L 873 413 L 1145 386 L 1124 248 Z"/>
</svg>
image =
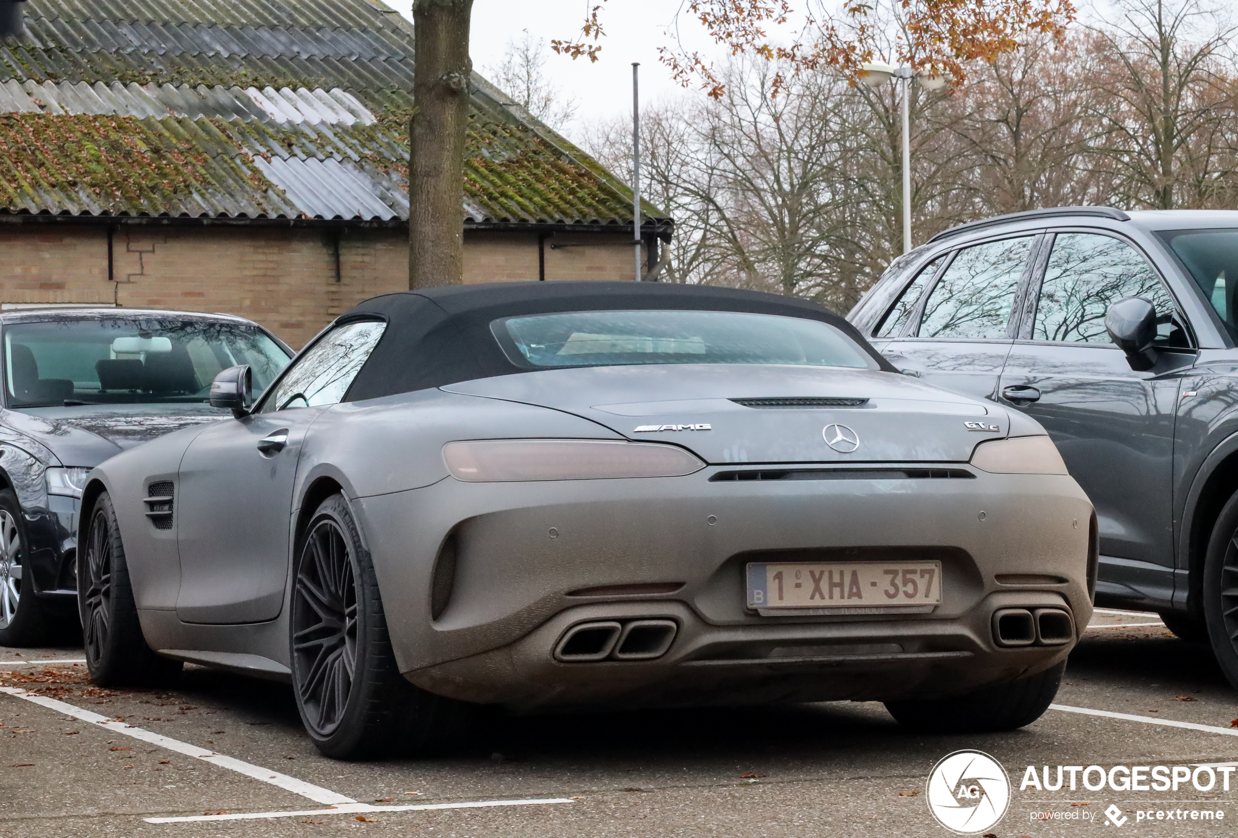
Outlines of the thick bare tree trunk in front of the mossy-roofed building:
<svg viewBox="0 0 1238 838">
<path fill-rule="evenodd" d="M 409 287 L 464 281 L 464 129 L 468 125 L 473 0 L 412 4 L 409 126 Z"/>
</svg>

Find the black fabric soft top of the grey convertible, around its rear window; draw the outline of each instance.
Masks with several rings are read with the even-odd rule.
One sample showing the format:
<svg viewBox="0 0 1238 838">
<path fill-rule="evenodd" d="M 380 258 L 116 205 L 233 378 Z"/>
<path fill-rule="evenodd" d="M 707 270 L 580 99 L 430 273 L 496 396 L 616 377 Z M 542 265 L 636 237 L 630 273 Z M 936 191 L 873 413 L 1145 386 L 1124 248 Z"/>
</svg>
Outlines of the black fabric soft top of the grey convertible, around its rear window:
<svg viewBox="0 0 1238 838">
<path fill-rule="evenodd" d="M 496 282 L 389 293 L 366 300 L 340 316 L 340 323 L 371 318 L 387 323 L 344 400 L 378 399 L 527 371 L 508 359 L 490 333 L 490 323 L 503 317 L 639 308 L 750 312 L 822 321 L 847 333 L 883 370 L 898 371 L 851 323 L 807 300 L 657 282 Z"/>
</svg>

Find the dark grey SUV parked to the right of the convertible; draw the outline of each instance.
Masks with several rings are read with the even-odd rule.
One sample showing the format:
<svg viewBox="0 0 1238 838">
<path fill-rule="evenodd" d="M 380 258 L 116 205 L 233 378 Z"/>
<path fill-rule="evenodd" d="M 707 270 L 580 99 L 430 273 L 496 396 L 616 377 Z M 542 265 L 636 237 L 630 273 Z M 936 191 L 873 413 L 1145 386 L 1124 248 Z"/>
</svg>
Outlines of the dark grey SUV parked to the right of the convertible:
<svg viewBox="0 0 1238 838">
<path fill-rule="evenodd" d="M 848 319 L 1019 407 L 1096 505 L 1099 605 L 1211 639 L 1238 686 L 1238 212 L 1031 210 L 895 261 Z"/>
</svg>

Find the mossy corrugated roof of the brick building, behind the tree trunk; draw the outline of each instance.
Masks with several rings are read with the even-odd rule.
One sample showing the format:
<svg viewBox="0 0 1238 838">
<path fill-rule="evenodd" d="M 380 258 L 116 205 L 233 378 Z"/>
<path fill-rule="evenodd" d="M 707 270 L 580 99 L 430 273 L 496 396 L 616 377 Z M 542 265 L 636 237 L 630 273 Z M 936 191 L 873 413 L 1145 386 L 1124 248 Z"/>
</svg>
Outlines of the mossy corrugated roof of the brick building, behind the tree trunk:
<svg viewBox="0 0 1238 838">
<path fill-rule="evenodd" d="M 30 0 L 27 15 L 30 41 L 0 45 L 0 210 L 407 217 L 412 31 L 378 0 Z M 468 219 L 630 218 L 613 176 L 474 87 Z"/>
</svg>

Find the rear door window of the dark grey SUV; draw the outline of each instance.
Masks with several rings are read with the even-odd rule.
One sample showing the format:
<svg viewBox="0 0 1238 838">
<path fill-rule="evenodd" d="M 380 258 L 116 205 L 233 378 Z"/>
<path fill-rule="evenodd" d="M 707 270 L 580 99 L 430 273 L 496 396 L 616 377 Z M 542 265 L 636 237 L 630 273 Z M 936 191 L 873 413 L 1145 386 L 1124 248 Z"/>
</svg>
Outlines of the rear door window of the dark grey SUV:
<svg viewBox="0 0 1238 838">
<path fill-rule="evenodd" d="M 1026 235 L 959 250 L 928 293 L 920 337 L 1005 338 L 1035 239 Z"/>
</svg>

